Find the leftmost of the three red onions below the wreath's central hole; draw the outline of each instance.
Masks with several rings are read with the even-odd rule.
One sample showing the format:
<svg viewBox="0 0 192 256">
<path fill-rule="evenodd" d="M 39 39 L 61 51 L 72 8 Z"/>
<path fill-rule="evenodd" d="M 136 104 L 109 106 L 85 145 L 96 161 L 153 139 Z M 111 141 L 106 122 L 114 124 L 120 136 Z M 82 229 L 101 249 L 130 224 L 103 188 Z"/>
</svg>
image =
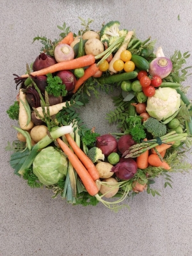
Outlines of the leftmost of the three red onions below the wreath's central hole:
<svg viewBox="0 0 192 256">
<path fill-rule="evenodd" d="M 102 150 L 105 157 L 118 150 L 116 138 L 111 134 L 104 134 L 97 137 L 96 147 Z"/>
</svg>

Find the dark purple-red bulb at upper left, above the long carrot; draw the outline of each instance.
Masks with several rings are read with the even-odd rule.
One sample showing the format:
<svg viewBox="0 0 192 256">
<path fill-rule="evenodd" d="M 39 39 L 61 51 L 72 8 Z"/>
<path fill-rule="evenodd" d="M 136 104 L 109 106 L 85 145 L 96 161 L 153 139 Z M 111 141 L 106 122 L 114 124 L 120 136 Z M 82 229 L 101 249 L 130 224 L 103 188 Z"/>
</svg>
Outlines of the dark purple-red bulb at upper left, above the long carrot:
<svg viewBox="0 0 192 256">
<path fill-rule="evenodd" d="M 38 71 L 43 68 L 50 67 L 56 63 L 57 62 L 54 58 L 42 52 L 38 57 L 36 57 L 35 61 L 33 62 L 32 68 L 33 68 L 33 71 Z"/>
</svg>

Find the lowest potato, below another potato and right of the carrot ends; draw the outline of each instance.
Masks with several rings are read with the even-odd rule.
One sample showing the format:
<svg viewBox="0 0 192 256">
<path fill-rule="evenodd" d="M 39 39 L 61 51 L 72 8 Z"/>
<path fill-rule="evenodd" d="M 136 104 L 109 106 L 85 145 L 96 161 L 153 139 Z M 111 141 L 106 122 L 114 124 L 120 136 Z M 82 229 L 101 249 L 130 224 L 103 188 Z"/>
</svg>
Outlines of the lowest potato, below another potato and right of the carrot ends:
<svg viewBox="0 0 192 256">
<path fill-rule="evenodd" d="M 114 188 L 113 187 L 111 188 L 110 186 L 113 186 L 113 185 L 117 184 L 118 181 L 115 178 L 112 178 L 112 177 L 110 177 L 108 179 L 104 179 L 102 181 L 108 182 L 108 184 L 101 185 L 99 192 L 102 193 L 102 195 L 106 194 L 106 195 L 104 195 L 104 197 L 106 197 L 106 198 L 110 198 L 112 196 L 115 196 L 116 193 L 118 192 L 119 187 L 115 186 Z"/>
</svg>

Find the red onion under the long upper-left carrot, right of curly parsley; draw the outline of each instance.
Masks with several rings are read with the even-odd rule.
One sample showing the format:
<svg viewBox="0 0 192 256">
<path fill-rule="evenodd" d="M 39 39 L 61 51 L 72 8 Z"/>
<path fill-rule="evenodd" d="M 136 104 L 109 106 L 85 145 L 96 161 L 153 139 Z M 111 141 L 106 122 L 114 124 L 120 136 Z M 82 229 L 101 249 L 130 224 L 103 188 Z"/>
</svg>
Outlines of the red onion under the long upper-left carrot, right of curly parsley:
<svg viewBox="0 0 192 256">
<path fill-rule="evenodd" d="M 67 92 L 74 90 L 77 79 L 70 70 L 61 70 L 56 73 L 56 76 L 61 78 L 63 84 L 65 84 Z"/>
</svg>

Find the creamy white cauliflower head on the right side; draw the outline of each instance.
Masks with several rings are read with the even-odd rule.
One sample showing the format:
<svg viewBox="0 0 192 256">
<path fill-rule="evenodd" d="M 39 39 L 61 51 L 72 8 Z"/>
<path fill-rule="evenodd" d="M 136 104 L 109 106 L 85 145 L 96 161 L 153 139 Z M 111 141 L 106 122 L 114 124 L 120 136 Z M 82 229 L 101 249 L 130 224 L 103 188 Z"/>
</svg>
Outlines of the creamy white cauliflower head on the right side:
<svg viewBox="0 0 192 256">
<path fill-rule="evenodd" d="M 146 111 L 157 120 L 166 120 L 180 107 L 180 94 L 170 87 L 159 87 L 153 97 L 148 97 Z"/>
</svg>

